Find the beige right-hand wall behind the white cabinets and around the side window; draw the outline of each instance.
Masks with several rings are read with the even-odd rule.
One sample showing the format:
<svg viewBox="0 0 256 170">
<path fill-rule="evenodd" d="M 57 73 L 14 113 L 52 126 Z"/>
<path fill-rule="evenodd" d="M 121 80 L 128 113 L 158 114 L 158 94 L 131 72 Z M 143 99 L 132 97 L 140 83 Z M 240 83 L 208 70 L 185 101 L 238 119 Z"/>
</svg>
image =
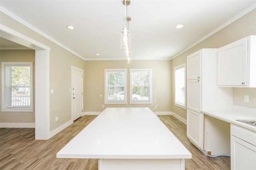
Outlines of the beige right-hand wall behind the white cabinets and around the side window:
<svg viewBox="0 0 256 170">
<path fill-rule="evenodd" d="M 208 37 L 198 45 L 185 51 L 172 60 L 172 70 L 179 64 L 186 63 L 186 57 L 202 48 L 220 48 L 224 45 L 242 39 L 248 35 L 256 35 L 256 10 L 251 11 L 242 18 L 224 27 L 212 36 Z M 174 93 L 174 72 L 172 72 L 172 94 Z M 244 102 L 244 95 L 249 94 L 249 102 Z M 256 108 L 256 88 L 233 88 L 233 104 L 244 107 Z M 172 95 L 172 101 L 174 96 Z M 186 110 L 174 105 L 172 102 L 172 112 L 186 119 Z"/>
</svg>

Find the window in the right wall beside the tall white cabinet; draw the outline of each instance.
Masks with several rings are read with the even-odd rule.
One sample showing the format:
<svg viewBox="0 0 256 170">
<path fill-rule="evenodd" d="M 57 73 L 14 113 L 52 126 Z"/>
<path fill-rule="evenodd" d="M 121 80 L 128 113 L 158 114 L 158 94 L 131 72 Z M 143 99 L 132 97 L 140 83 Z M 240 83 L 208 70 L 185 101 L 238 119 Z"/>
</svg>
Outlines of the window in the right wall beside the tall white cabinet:
<svg viewBox="0 0 256 170">
<path fill-rule="evenodd" d="M 181 64 L 174 67 L 175 72 L 175 106 L 186 109 L 186 88 L 185 88 L 185 77 L 186 77 L 186 64 Z"/>
</svg>

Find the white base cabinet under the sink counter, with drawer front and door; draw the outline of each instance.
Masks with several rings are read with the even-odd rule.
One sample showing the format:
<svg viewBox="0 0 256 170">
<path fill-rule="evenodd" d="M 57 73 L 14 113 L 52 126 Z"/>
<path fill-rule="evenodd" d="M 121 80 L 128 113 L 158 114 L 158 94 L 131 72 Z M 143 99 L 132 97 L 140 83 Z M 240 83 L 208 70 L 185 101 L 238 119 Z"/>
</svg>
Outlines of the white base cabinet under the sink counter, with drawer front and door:
<svg viewBox="0 0 256 170">
<path fill-rule="evenodd" d="M 255 170 L 256 132 L 232 125 L 231 131 L 231 170 Z"/>
</svg>

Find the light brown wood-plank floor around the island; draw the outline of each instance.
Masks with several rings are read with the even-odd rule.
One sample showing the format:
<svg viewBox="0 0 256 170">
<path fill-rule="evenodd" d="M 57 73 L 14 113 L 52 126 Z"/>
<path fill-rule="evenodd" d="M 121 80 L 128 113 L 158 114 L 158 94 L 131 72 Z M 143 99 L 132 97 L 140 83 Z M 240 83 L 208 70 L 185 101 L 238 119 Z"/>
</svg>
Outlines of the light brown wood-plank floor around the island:
<svg viewBox="0 0 256 170">
<path fill-rule="evenodd" d="M 0 170 L 98 170 L 97 159 L 56 158 L 56 153 L 96 115 L 85 115 L 48 140 L 35 140 L 34 128 L 0 128 Z M 230 158 L 209 158 L 190 143 L 186 125 L 172 115 L 158 115 L 190 151 L 186 170 L 229 170 Z M 171 145 L 171 144 L 170 144 Z"/>
</svg>

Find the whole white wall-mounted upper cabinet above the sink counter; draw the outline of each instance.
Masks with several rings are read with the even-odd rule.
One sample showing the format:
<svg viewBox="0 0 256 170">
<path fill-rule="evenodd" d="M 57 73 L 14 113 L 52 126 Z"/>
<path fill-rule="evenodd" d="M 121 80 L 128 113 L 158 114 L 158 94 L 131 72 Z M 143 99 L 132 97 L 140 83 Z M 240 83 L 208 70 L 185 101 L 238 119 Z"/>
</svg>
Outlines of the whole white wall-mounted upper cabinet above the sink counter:
<svg viewBox="0 0 256 170">
<path fill-rule="evenodd" d="M 218 86 L 256 87 L 256 35 L 218 49 Z"/>
</svg>

